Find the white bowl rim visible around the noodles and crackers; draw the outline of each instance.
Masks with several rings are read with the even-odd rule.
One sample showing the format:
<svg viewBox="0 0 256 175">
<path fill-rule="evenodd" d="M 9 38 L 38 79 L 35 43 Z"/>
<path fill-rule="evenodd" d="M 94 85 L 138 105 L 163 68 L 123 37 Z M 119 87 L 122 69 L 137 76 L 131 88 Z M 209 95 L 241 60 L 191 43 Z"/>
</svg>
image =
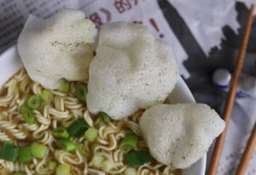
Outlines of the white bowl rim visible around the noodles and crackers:
<svg viewBox="0 0 256 175">
<path fill-rule="evenodd" d="M 13 46 L 0 55 L 0 88 L 9 77 L 15 74 L 23 67 L 16 47 Z M 177 86 L 174 88 L 167 101 L 172 104 L 177 103 L 195 103 L 192 93 L 188 86 L 183 81 L 182 77 L 178 76 Z M 183 175 L 204 175 L 206 171 L 207 155 L 204 155 L 189 169 L 183 170 Z"/>
</svg>

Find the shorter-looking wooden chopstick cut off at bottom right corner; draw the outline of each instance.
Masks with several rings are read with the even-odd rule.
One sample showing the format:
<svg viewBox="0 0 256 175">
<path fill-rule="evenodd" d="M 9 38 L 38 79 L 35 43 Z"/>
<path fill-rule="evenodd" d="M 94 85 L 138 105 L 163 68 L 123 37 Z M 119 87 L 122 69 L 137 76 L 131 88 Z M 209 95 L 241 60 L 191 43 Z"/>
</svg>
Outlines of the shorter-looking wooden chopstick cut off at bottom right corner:
<svg viewBox="0 0 256 175">
<path fill-rule="evenodd" d="M 239 163 L 239 166 L 236 170 L 236 175 L 244 175 L 247 170 L 247 165 L 251 159 L 251 156 L 253 155 L 253 150 L 256 145 L 256 122 L 253 127 L 253 132 L 251 133 L 251 136 L 247 142 L 247 148 L 243 152 L 243 155 L 241 157 L 241 161 Z"/>
</svg>

